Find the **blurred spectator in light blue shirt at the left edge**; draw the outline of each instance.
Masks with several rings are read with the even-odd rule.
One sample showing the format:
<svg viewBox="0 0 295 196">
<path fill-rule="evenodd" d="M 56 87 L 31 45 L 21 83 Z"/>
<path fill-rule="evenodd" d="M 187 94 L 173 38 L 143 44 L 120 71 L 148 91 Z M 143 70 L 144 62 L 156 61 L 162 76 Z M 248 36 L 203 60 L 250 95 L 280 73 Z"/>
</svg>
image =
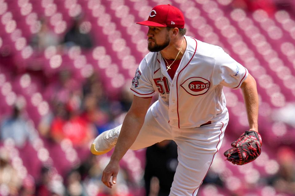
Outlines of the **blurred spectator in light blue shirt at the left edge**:
<svg viewBox="0 0 295 196">
<path fill-rule="evenodd" d="M 12 138 L 17 147 L 22 148 L 26 141 L 33 141 L 36 138 L 34 128 L 29 126 L 27 120 L 22 115 L 22 108 L 15 105 L 13 114 L 8 119 L 4 120 L 1 124 L 1 140 Z"/>
</svg>

